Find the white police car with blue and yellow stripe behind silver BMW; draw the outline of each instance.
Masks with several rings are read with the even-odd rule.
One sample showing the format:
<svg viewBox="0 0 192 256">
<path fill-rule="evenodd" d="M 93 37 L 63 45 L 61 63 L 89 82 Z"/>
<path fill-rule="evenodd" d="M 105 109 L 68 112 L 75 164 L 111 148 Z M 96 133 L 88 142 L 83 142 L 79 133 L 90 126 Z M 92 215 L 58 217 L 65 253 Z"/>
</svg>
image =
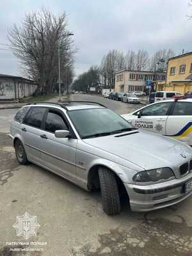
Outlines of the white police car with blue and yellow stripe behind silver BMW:
<svg viewBox="0 0 192 256">
<path fill-rule="evenodd" d="M 170 136 L 192 146 L 192 99 L 175 96 L 122 116 L 138 129 Z"/>
</svg>

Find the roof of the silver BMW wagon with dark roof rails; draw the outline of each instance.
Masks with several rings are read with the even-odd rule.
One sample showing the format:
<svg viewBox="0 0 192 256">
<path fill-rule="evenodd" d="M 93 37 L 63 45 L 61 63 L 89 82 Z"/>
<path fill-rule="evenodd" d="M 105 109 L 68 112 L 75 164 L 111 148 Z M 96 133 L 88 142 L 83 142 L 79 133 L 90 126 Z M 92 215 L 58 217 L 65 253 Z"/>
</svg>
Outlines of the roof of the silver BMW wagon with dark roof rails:
<svg viewBox="0 0 192 256">
<path fill-rule="evenodd" d="M 62 108 L 65 110 L 77 110 L 77 109 L 91 109 L 91 108 L 106 108 L 106 106 L 98 102 L 90 101 L 68 101 L 68 102 L 34 102 L 26 104 L 26 106 L 44 106 L 44 107 L 55 107 Z"/>
</svg>

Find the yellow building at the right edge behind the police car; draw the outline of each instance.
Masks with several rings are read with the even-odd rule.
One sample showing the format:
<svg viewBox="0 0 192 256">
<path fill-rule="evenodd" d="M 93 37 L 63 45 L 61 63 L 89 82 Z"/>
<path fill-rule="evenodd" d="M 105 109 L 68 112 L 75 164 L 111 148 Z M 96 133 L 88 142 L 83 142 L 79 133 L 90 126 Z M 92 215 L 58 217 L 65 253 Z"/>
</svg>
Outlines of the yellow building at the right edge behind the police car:
<svg viewBox="0 0 192 256">
<path fill-rule="evenodd" d="M 168 60 L 165 91 L 192 92 L 192 52 Z"/>
</svg>

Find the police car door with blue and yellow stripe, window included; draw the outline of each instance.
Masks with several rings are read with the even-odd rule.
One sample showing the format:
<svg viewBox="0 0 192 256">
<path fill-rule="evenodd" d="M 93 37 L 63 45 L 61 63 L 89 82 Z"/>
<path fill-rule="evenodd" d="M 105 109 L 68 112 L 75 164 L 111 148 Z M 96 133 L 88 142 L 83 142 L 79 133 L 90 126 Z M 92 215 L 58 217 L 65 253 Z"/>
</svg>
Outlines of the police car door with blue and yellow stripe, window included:
<svg viewBox="0 0 192 256">
<path fill-rule="evenodd" d="M 192 145 L 192 102 L 175 102 L 166 122 L 166 135 Z"/>
</svg>

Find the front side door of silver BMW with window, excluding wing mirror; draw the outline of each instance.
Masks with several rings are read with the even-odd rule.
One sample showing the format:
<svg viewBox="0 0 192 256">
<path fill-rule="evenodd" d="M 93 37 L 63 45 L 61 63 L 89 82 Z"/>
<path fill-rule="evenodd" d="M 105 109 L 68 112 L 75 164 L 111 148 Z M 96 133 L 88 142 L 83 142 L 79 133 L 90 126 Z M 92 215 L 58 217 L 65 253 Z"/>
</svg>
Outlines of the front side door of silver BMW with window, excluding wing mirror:
<svg viewBox="0 0 192 256">
<path fill-rule="evenodd" d="M 56 138 L 56 130 L 69 130 L 71 137 Z M 75 182 L 77 138 L 62 111 L 49 108 L 41 136 L 44 166 Z"/>
</svg>

